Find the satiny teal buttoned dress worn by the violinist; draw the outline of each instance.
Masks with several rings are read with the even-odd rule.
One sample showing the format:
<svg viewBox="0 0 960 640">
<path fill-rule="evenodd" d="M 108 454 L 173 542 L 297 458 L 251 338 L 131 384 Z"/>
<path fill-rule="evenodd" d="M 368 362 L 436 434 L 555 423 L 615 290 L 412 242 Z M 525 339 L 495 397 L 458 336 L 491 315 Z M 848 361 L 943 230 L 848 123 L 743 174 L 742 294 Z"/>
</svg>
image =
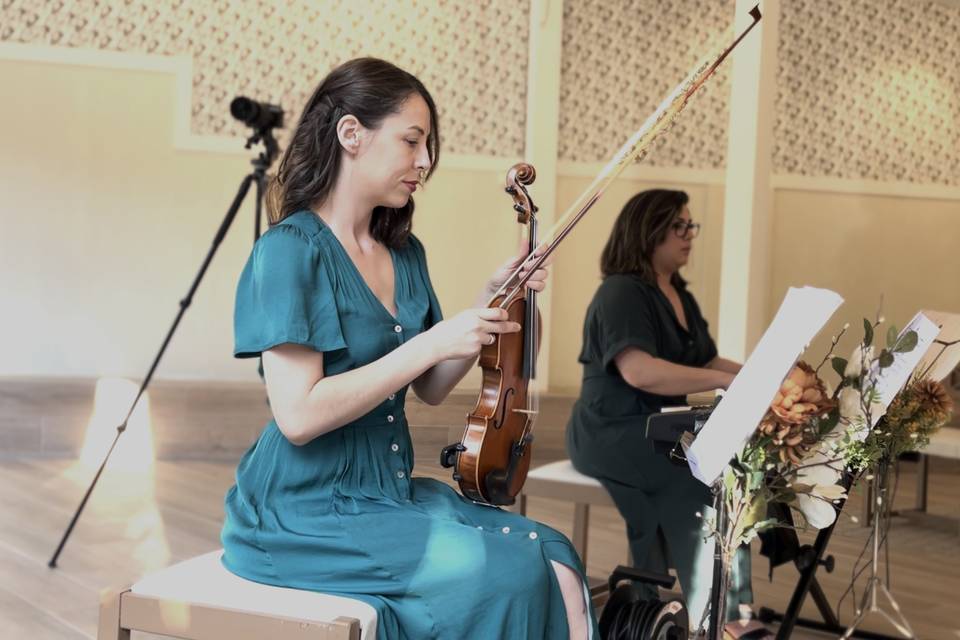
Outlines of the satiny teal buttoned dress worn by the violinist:
<svg viewBox="0 0 960 640">
<path fill-rule="evenodd" d="M 429 329 L 441 314 L 423 246 L 411 235 L 390 253 L 397 317 L 319 217 L 286 218 L 257 241 L 240 277 L 234 354 L 301 344 L 322 352 L 324 375 L 334 376 Z M 382 640 L 567 638 L 550 561 L 582 578 L 570 542 L 412 477 L 406 392 L 303 446 L 267 424 L 227 492 L 224 565 L 249 580 L 367 602 Z"/>
</svg>

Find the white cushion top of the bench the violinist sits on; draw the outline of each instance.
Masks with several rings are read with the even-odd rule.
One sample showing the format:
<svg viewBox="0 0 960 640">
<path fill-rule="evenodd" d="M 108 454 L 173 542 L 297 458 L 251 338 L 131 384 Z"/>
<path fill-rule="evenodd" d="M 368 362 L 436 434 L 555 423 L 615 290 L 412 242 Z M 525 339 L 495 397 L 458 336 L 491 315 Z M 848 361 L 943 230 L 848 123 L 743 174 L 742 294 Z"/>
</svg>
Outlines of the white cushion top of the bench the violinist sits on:
<svg viewBox="0 0 960 640">
<path fill-rule="evenodd" d="M 314 622 L 331 622 L 340 616 L 357 618 L 362 640 L 376 635 L 377 612 L 367 603 L 245 580 L 227 571 L 220 563 L 221 555 L 223 550 L 218 549 L 161 569 L 141 579 L 130 590 L 163 600 Z"/>
</svg>

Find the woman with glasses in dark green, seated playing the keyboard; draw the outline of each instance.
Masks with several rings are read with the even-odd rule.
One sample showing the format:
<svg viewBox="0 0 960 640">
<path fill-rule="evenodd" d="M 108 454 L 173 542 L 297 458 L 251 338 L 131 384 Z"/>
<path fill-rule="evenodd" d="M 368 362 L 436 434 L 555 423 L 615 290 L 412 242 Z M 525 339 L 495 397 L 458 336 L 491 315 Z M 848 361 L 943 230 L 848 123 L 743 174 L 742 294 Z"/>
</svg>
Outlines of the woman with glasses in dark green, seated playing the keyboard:
<svg viewBox="0 0 960 640">
<path fill-rule="evenodd" d="M 627 202 L 600 260 L 603 281 L 583 328 L 580 397 L 567 425 L 573 465 L 610 492 L 627 523 L 634 563 L 676 568 L 698 624 L 709 598 L 712 544 L 702 514 L 709 489 L 655 453 L 647 416 L 687 394 L 726 388 L 740 365 L 717 355 L 707 322 L 680 276 L 700 229 L 687 194 L 652 189 Z M 740 554 L 728 618 L 752 600 L 749 553 Z M 742 575 L 739 575 L 741 574 Z"/>
</svg>

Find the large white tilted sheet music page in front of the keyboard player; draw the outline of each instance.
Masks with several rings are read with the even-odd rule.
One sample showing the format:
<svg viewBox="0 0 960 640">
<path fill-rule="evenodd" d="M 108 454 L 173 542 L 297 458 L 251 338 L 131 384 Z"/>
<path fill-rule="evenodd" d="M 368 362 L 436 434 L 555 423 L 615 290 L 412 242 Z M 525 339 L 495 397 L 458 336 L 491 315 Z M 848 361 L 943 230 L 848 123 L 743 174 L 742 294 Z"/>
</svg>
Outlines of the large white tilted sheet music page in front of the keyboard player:
<svg viewBox="0 0 960 640">
<path fill-rule="evenodd" d="M 797 356 L 842 303 L 827 289 L 787 291 L 773 322 L 687 450 L 694 477 L 706 485 L 720 477 L 753 435 Z"/>
</svg>

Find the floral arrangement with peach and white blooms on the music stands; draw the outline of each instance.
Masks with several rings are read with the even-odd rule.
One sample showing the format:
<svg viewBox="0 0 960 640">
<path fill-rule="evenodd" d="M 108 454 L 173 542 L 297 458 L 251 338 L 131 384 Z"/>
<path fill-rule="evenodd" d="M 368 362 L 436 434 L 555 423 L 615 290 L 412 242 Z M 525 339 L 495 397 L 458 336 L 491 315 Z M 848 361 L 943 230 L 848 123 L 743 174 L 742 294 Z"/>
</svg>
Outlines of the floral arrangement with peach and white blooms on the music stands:
<svg viewBox="0 0 960 640">
<path fill-rule="evenodd" d="M 905 385 L 884 414 L 878 382 L 897 354 L 916 348 L 918 337 L 891 326 L 886 346 L 877 348 L 882 323 L 879 316 L 864 320 L 863 339 L 849 359 L 833 353 L 849 328 L 844 326 L 816 368 L 800 361 L 781 383 L 756 433 L 724 473 L 724 526 L 715 519 L 704 525 L 728 561 L 761 531 L 784 526 L 767 517 L 771 503 L 789 505 L 814 528 L 830 526 L 853 478 L 848 474 L 925 446 L 949 420 L 950 396 L 922 375 Z M 819 375 L 828 361 L 840 376 L 833 390 Z"/>
</svg>

